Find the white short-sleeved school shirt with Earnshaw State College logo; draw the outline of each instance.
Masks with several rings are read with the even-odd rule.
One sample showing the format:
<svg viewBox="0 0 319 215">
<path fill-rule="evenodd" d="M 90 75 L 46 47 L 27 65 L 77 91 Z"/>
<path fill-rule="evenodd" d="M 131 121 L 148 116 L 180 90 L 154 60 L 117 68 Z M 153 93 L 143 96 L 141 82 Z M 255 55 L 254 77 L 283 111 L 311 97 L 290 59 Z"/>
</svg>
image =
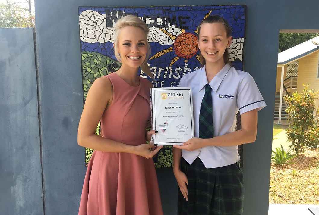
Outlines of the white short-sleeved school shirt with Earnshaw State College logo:
<svg viewBox="0 0 319 215">
<path fill-rule="evenodd" d="M 184 75 L 179 87 L 191 87 L 193 95 L 194 130 L 198 137 L 199 112 L 207 84 L 205 66 Z M 247 72 L 226 64 L 209 83 L 211 86 L 214 137 L 232 133 L 236 128 L 236 114 L 243 114 L 266 106 L 256 82 Z M 183 158 L 191 164 L 197 157 L 206 168 L 233 164 L 240 160 L 238 146 L 207 146 L 194 151 L 182 150 Z"/>
</svg>

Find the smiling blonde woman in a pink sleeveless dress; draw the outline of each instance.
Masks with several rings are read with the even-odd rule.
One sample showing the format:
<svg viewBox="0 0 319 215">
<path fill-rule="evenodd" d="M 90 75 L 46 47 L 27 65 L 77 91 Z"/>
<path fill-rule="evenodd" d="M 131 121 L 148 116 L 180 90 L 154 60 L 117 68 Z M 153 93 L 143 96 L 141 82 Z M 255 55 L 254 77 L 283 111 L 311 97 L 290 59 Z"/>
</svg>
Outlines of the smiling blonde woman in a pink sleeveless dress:
<svg viewBox="0 0 319 215">
<path fill-rule="evenodd" d="M 150 46 L 147 25 L 133 15 L 115 24 L 114 51 L 122 62 L 114 73 L 91 86 L 79 122 L 78 144 L 95 149 L 88 164 L 79 215 L 162 215 L 152 158 L 161 147 L 146 144 L 152 77 L 146 61 Z M 95 134 L 101 121 L 103 136 Z"/>
</svg>

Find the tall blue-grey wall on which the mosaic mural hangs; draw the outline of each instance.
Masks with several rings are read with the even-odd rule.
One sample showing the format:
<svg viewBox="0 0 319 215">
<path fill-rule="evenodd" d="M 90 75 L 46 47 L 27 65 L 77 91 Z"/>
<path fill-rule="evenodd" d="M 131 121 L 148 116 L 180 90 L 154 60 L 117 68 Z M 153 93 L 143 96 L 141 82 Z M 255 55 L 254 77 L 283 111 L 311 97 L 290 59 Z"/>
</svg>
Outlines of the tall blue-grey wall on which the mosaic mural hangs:
<svg viewBox="0 0 319 215">
<path fill-rule="evenodd" d="M 318 29 L 317 0 L 203 0 L 198 4 L 246 4 L 245 71 L 267 103 L 258 115 L 254 144 L 244 147 L 245 215 L 268 214 L 272 123 L 279 29 Z M 78 6 L 194 5 L 192 0 L 35 0 L 46 215 L 77 214 L 85 174 L 84 150 L 77 146 L 82 111 Z M 161 194 L 173 197 L 172 173 L 158 170 Z M 166 186 L 164 186 L 166 184 Z M 176 214 L 163 199 L 165 214 Z"/>
</svg>

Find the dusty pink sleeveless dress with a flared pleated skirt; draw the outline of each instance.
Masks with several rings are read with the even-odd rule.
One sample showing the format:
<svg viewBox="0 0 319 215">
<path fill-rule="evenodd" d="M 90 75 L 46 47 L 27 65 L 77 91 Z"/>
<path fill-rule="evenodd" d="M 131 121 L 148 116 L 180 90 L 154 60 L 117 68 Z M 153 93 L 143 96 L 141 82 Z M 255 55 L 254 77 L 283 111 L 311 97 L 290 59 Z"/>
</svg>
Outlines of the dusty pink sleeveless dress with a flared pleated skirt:
<svg viewBox="0 0 319 215">
<path fill-rule="evenodd" d="M 103 137 L 128 145 L 145 143 L 150 118 L 147 80 L 137 87 L 116 73 L 104 76 L 113 85 L 113 101 L 101 118 Z M 79 215 L 162 215 L 152 159 L 94 151 L 86 170 Z"/>
</svg>

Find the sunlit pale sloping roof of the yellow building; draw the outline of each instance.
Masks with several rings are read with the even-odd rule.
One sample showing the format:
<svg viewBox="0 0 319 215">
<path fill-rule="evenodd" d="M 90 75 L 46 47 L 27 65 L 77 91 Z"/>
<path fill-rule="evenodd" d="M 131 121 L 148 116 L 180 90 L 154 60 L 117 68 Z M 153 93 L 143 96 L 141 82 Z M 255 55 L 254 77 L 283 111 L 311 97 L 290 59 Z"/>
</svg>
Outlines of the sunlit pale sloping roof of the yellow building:
<svg viewBox="0 0 319 215">
<path fill-rule="evenodd" d="M 278 54 L 278 64 L 286 64 L 319 50 L 319 36 Z"/>
</svg>

